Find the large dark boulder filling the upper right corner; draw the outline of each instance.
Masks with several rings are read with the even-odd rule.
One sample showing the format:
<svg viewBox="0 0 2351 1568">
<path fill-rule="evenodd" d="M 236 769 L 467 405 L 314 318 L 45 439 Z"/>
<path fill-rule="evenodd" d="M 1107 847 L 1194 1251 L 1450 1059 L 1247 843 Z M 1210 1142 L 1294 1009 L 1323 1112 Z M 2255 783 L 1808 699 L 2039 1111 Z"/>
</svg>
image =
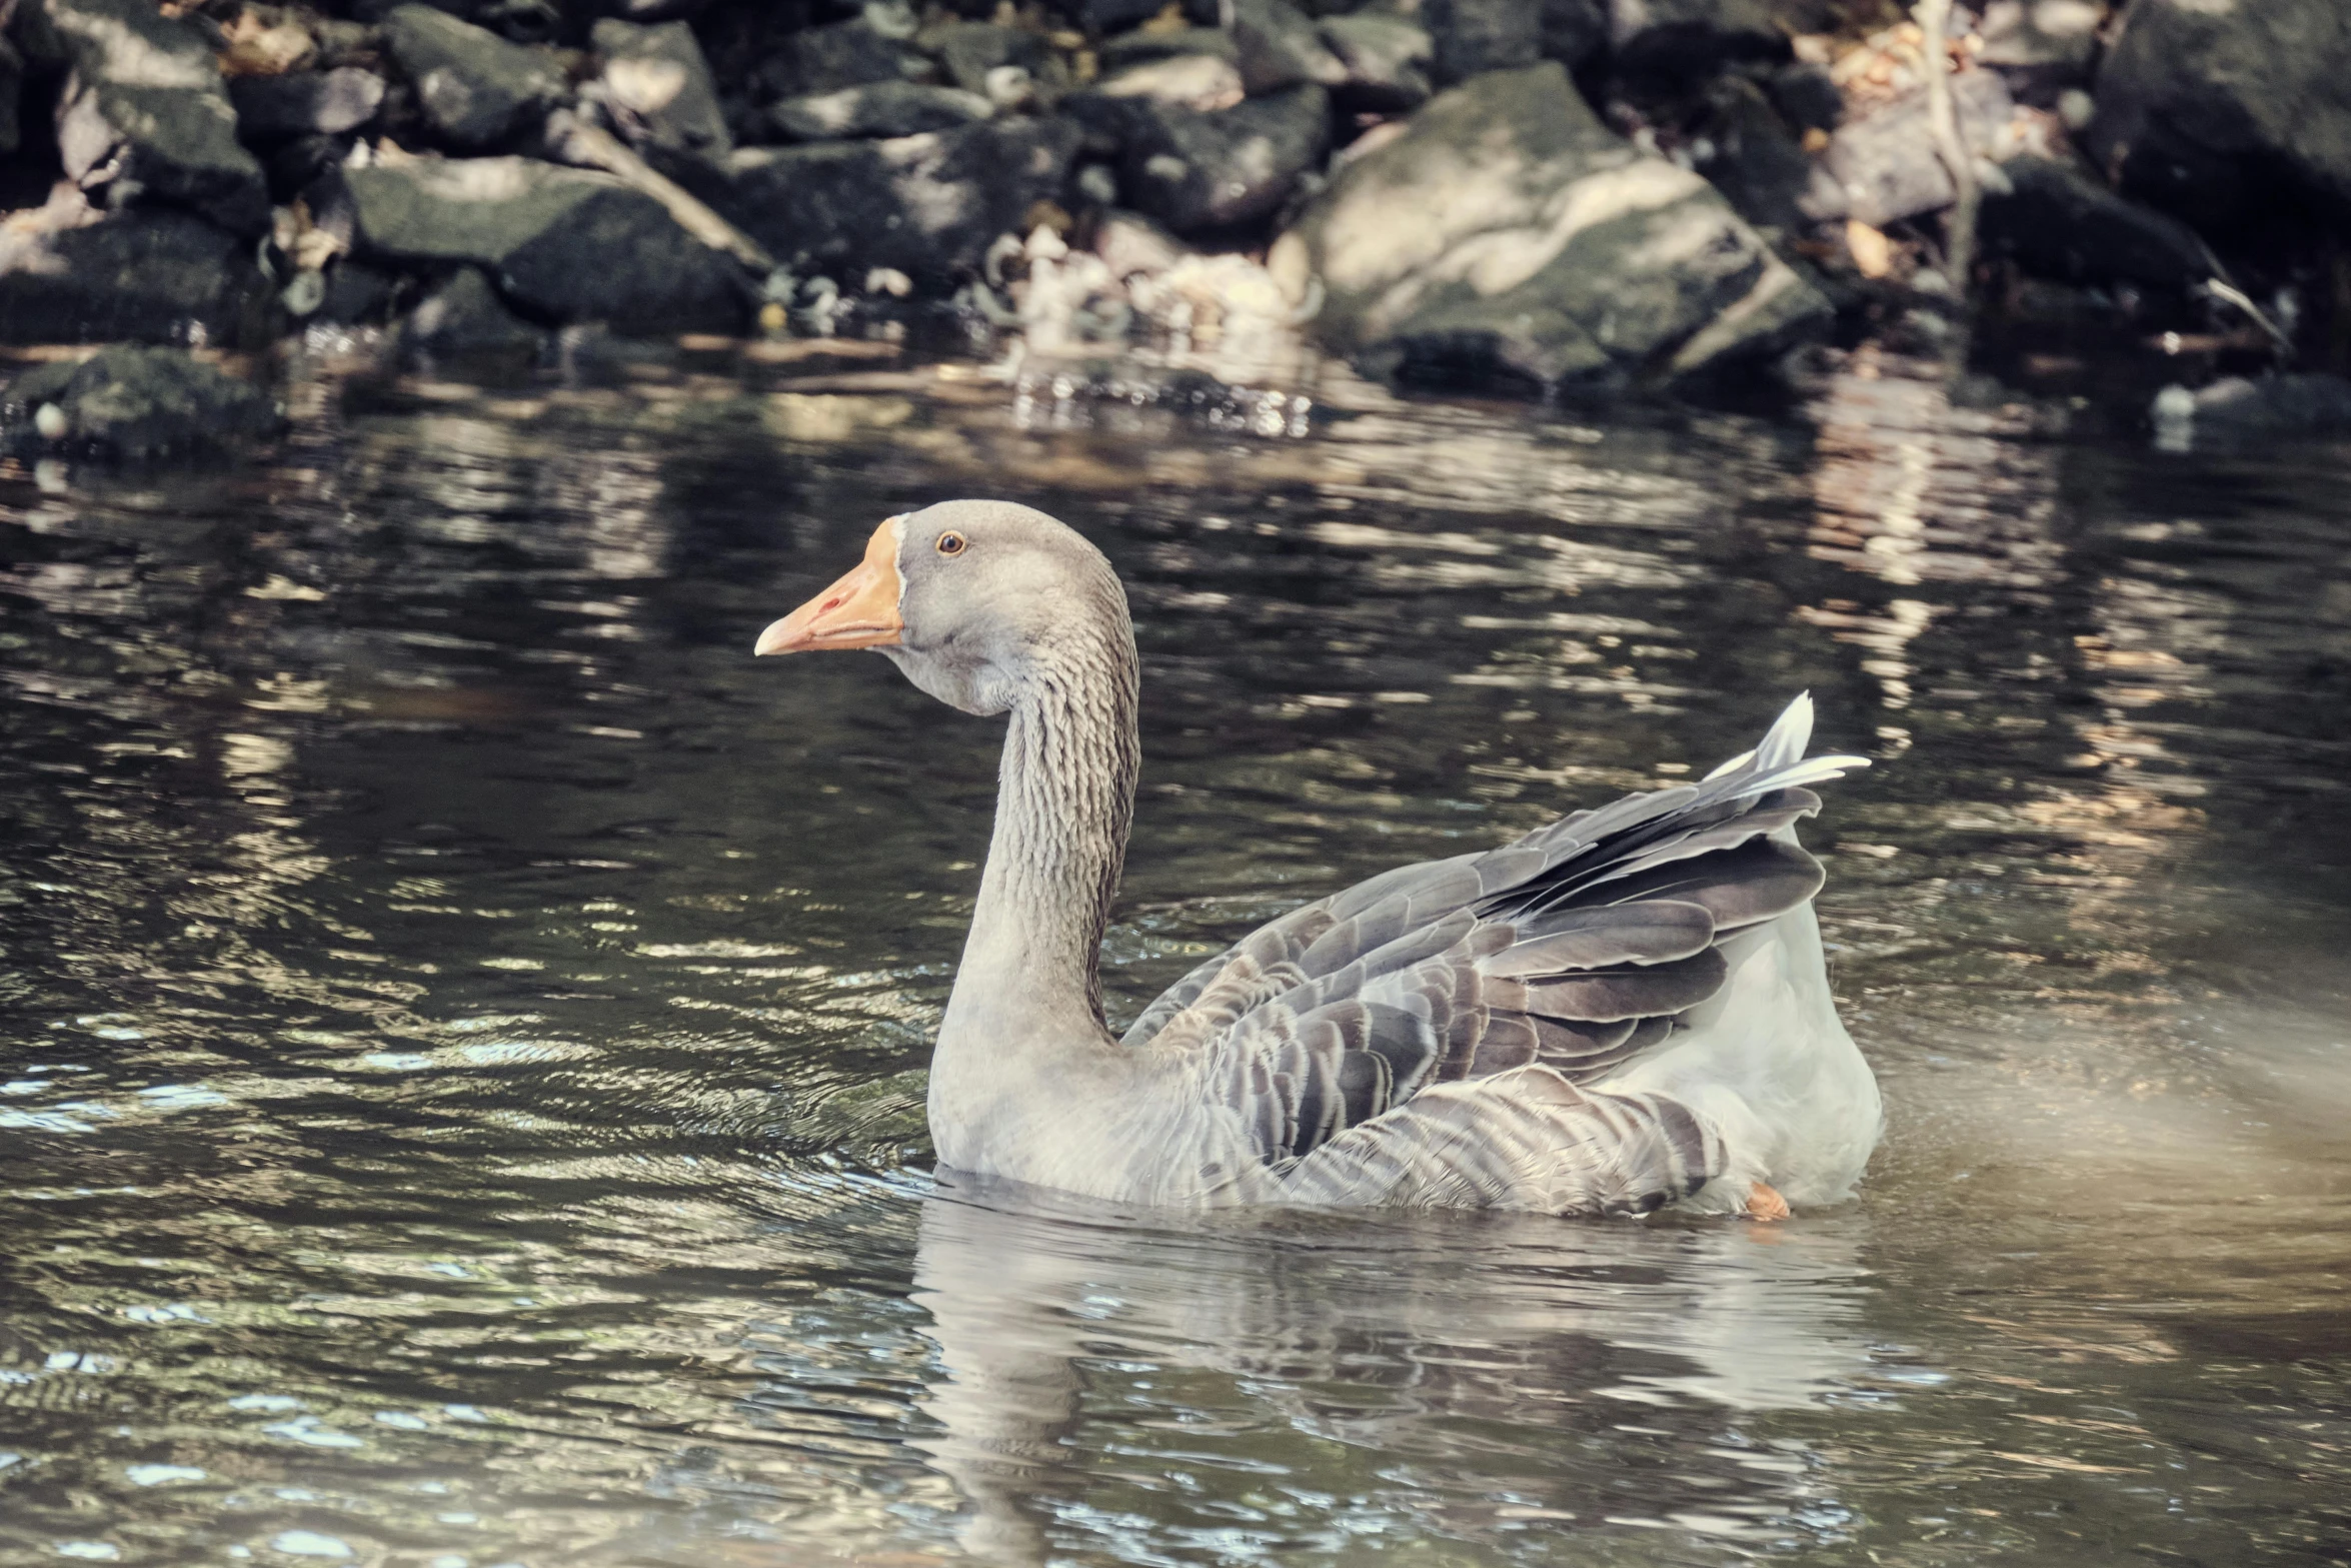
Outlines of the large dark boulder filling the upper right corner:
<svg viewBox="0 0 2351 1568">
<path fill-rule="evenodd" d="M 2137 0 L 2095 96 L 2090 160 L 2208 233 L 2295 197 L 2351 205 L 2342 0 Z"/>
</svg>

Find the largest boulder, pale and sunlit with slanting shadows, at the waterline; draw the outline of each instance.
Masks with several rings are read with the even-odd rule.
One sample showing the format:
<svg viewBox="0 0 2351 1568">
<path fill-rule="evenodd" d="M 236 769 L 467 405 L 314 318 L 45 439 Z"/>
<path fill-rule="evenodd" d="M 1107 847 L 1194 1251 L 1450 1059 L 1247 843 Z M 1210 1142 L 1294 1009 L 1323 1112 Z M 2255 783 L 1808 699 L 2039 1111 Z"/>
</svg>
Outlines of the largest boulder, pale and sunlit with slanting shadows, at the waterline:
<svg viewBox="0 0 2351 1568">
<path fill-rule="evenodd" d="M 1411 221 L 1396 221 L 1411 214 Z M 1829 303 L 1707 181 L 1608 132 L 1556 61 L 1439 94 L 1267 259 L 1399 381 L 1617 390 L 1773 355 Z"/>
</svg>

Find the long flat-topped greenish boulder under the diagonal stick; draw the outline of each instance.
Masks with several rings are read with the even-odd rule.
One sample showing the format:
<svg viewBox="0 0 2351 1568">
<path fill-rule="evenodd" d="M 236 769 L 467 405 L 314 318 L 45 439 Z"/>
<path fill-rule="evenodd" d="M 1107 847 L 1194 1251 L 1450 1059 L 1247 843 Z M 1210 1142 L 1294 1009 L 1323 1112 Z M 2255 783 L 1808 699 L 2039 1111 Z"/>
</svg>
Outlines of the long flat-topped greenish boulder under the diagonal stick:
<svg viewBox="0 0 2351 1568">
<path fill-rule="evenodd" d="M 607 174 L 529 158 L 421 158 L 343 174 L 362 261 L 473 261 L 522 310 L 618 331 L 743 324 L 736 266 Z"/>
</svg>

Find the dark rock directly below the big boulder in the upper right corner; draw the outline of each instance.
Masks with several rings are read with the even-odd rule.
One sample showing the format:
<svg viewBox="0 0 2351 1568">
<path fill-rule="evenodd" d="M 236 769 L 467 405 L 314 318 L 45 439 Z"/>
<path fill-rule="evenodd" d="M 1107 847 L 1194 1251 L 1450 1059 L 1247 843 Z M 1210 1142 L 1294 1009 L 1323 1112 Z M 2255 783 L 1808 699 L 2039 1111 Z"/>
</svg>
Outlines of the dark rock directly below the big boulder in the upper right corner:
<svg viewBox="0 0 2351 1568">
<path fill-rule="evenodd" d="M 2048 158 L 2001 165 L 2008 190 L 1984 190 L 1984 254 L 2034 277 L 2139 282 L 2184 292 L 2219 268 L 2186 223 L 2139 207 L 2104 181 Z"/>
</svg>

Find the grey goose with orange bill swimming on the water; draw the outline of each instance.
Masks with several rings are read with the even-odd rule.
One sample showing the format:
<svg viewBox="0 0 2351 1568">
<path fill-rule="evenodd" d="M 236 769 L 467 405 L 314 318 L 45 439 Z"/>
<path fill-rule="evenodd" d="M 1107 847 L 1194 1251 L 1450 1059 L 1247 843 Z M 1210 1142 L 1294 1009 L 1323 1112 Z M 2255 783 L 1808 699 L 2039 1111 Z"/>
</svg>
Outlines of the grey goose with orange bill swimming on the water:
<svg viewBox="0 0 2351 1568">
<path fill-rule="evenodd" d="M 1009 715 L 994 835 L 929 1074 L 945 1173 L 1147 1206 L 1660 1211 L 1782 1220 L 1853 1194 L 1876 1079 L 1829 994 L 1796 823 L 1810 698 L 1697 783 L 1281 914 L 1103 1011 L 1133 823 L 1126 592 L 1006 501 L 889 517 L 755 654 L 875 649 Z"/>
</svg>

